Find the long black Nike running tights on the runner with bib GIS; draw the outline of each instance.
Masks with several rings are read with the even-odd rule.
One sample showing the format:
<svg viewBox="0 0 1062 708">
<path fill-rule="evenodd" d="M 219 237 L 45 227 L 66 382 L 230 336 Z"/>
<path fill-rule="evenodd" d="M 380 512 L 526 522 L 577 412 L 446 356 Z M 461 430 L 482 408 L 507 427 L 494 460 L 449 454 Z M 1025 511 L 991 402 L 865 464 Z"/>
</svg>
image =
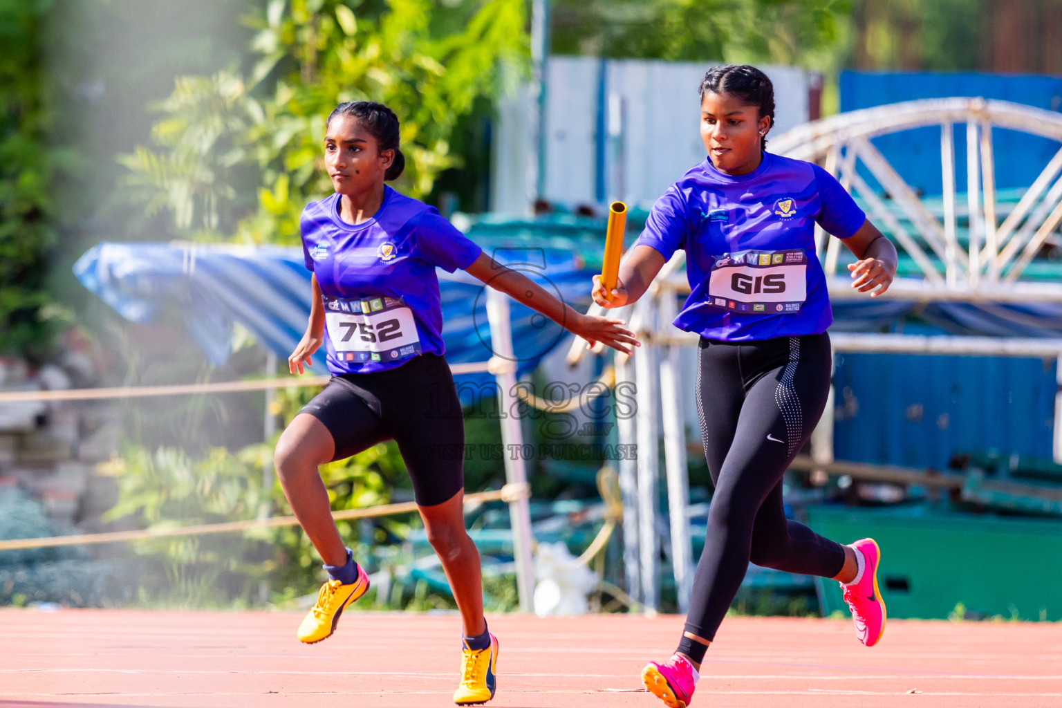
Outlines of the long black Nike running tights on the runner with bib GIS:
<svg viewBox="0 0 1062 708">
<path fill-rule="evenodd" d="M 698 414 L 716 490 L 686 632 L 712 640 L 750 560 L 833 577 L 844 550 L 786 519 L 782 506 L 782 476 L 826 405 L 829 338 L 733 344 L 702 338 L 698 357 Z"/>
</svg>

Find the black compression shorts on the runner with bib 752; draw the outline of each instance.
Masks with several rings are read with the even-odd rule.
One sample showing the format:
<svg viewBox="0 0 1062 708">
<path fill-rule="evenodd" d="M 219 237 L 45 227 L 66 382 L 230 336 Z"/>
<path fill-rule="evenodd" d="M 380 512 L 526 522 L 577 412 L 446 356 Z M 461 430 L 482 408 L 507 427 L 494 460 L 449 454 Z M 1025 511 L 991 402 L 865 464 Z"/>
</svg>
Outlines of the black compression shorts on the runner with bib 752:
<svg viewBox="0 0 1062 708">
<path fill-rule="evenodd" d="M 394 439 L 421 506 L 441 504 L 464 487 L 464 418 L 450 367 L 439 355 L 386 372 L 333 376 L 299 413 L 331 433 L 332 460 Z"/>
</svg>

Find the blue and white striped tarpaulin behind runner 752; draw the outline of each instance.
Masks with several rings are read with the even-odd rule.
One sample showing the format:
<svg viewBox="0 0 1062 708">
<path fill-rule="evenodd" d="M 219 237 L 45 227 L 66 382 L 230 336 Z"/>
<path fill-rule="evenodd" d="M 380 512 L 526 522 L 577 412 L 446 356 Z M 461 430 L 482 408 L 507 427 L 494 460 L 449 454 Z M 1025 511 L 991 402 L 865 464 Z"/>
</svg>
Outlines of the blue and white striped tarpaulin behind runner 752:
<svg viewBox="0 0 1062 708">
<path fill-rule="evenodd" d="M 565 301 L 588 306 L 590 274 L 570 252 L 499 247 L 494 255 Z M 164 312 L 178 317 L 216 365 L 232 353 L 236 324 L 287 358 L 310 314 L 310 272 L 299 248 L 105 242 L 85 253 L 73 270 L 131 322 L 153 322 Z M 485 286 L 462 271 L 436 273 L 447 359 L 485 361 L 491 357 Z M 534 368 L 566 340 L 559 325 L 515 303 L 512 328 L 520 370 Z"/>
</svg>

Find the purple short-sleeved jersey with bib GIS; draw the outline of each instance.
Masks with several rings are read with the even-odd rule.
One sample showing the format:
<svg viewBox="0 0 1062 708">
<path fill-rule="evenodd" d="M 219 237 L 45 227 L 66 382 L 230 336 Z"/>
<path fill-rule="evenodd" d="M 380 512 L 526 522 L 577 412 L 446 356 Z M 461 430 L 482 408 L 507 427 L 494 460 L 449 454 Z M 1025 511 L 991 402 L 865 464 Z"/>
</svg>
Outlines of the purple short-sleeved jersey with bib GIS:
<svg viewBox="0 0 1062 708">
<path fill-rule="evenodd" d="M 846 239 L 866 220 L 817 165 L 764 153 L 753 172 L 731 176 L 705 159 L 656 200 L 635 245 L 665 259 L 686 251 L 692 292 L 679 329 L 753 342 L 826 331 L 834 313 L 815 224 Z"/>
</svg>

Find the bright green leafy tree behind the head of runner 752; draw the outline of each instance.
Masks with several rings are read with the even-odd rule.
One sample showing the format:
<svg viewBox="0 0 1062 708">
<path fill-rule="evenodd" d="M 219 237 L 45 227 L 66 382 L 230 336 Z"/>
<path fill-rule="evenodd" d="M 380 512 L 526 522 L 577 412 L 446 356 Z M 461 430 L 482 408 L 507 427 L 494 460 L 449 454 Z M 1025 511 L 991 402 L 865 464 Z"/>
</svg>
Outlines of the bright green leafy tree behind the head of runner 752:
<svg viewBox="0 0 1062 708">
<path fill-rule="evenodd" d="M 398 114 L 400 186 L 427 194 L 460 165 L 458 122 L 527 54 L 521 0 L 270 0 L 247 21 L 253 67 L 178 80 L 156 106 L 155 145 L 123 158 L 124 187 L 182 235 L 296 242 L 302 208 L 330 191 L 324 121 L 342 101 Z"/>
</svg>

